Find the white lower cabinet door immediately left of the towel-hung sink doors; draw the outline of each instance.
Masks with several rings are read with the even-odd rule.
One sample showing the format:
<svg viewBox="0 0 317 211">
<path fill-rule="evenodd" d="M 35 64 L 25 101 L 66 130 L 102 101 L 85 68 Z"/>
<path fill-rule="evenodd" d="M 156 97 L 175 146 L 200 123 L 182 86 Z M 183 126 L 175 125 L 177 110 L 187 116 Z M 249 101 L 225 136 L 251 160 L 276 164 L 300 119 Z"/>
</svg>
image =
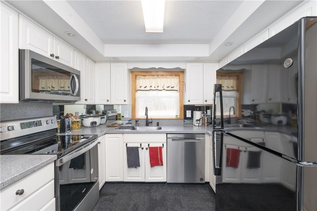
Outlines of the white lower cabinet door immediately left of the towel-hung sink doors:
<svg viewBox="0 0 317 211">
<path fill-rule="evenodd" d="M 123 181 L 122 134 L 106 134 L 106 181 Z"/>
</svg>

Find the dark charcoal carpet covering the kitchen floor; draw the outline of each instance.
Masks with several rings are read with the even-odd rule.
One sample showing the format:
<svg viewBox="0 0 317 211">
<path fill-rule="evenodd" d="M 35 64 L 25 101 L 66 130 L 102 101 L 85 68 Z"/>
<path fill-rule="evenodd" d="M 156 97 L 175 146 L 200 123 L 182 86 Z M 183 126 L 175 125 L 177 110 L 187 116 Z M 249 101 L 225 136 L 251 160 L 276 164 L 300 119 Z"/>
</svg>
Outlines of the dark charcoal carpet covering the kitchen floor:
<svg viewBox="0 0 317 211">
<path fill-rule="evenodd" d="M 106 183 L 93 211 L 214 211 L 209 184 Z"/>
</svg>

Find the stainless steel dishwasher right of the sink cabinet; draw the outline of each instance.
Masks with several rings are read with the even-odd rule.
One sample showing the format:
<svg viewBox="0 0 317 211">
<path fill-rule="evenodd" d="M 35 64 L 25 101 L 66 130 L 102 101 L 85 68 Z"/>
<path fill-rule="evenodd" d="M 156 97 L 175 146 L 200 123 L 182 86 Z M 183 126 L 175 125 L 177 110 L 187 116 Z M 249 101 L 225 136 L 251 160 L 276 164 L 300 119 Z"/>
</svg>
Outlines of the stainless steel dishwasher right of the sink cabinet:
<svg viewBox="0 0 317 211">
<path fill-rule="evenodd" d="M 167 134 L 167 182 L 205 182 L 205 134 Z"/>
</svg>

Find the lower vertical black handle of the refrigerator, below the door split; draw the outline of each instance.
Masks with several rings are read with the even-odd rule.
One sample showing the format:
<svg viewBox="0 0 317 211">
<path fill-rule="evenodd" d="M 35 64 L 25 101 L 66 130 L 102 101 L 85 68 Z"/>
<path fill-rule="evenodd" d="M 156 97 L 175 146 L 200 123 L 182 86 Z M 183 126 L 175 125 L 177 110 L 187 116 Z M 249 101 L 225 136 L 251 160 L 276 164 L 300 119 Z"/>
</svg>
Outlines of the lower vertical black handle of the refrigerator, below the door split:
<svg viewBox="0 0 317 211">
<path fill-rule="evenodd" d="M 217 135 L 217 133 L 220 133 L 220 134 Z M 217 136 L 220 136 L 220 137 L 217 137 Z M 223 133 L 214 131 L 212 133 L 212 163 L 213 163 L 213 174 L 215 176 L 221 175 L 222 146 L 223 146 Z"/>
</svg>

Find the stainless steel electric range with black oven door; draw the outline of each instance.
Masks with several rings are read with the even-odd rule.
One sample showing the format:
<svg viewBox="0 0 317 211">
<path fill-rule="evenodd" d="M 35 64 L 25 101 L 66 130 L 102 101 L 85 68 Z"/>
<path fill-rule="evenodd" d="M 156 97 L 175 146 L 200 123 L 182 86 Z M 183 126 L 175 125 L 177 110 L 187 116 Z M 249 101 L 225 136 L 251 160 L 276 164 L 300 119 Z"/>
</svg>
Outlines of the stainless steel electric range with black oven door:
<svg viewBox="0 0 317 211">
<path fill-rule="evenodd" d="M 99 200 L 97 135 L 56 134 L 53 116 L 1 122 L 1 155 L 55 154 L 56 210 L 94 208 Z"/>
</svg>

